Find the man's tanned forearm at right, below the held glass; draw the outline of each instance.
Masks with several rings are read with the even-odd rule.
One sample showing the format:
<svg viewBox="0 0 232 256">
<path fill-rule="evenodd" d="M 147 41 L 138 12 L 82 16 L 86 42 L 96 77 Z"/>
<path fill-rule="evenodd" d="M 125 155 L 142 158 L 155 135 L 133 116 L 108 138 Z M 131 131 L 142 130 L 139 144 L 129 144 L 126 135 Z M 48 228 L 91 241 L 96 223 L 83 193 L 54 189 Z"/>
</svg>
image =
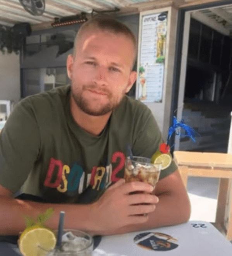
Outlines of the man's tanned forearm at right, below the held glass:
<svg viewBox="0 0 232 256">
<path fill-rule="evenodd" d="M 169 193 L 163 193 L 158 195 L 158 197 L 159 202 L 156 204 L 155 211 L 148 214 L 148 221 L 136 225 L 127 225 L 119 228 L 115 233 L 122 234 L 137 230 L 176 225 L 189 220 L 191 206 L 187 195 L 179 197 L 178 194 L 170 195 Z"/>
</svg>

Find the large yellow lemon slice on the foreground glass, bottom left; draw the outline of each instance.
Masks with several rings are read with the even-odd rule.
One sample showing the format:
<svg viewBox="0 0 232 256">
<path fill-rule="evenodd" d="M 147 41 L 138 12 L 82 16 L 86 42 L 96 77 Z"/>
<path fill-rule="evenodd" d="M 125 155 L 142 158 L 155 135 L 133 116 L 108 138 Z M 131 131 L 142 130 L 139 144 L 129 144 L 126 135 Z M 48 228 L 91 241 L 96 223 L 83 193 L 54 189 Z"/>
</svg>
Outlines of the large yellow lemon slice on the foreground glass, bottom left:
<svg viewBox="0 0 232 256">
<path fill-rule="evenodd" d="M 19 238 L 19 249 L 24 256 L 45 256 L 55 248 L 56 236 L 45 227 L 29 227 Z"/>
</svg>

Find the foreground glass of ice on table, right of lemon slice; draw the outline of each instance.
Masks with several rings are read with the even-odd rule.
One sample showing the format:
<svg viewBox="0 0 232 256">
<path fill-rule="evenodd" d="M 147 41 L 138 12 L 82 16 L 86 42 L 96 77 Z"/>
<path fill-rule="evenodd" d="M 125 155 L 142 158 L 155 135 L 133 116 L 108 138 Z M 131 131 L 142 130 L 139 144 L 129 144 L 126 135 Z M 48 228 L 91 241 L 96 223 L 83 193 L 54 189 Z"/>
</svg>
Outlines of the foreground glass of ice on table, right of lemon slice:
<svg viewBox="0 0 232 256">
<path fill-rule="evenodd" d="M 91 256 L 93 238 L 80 230 L 64 230 L 62 244 L 46 254 L 47 256 Z"/>
</svg>

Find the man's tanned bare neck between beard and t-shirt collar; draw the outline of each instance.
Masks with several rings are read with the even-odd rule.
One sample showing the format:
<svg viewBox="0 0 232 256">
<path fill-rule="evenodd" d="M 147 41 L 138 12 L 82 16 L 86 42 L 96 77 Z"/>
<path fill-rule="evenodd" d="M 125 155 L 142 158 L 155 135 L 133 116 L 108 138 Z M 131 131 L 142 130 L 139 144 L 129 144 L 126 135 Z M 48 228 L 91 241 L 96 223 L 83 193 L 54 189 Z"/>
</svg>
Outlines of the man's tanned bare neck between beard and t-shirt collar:
<svg viewBox="0 0 232 256">
<path fill-rule="evenodd" d="M 99 135 L 103 131 L 112 113 L 109 112 L 103 116 L 91 116 L 86 114 L 77 106 L 72 95 L 70 96 L 70 109 L 77 125 L 95 136 Z"/>
</svg>

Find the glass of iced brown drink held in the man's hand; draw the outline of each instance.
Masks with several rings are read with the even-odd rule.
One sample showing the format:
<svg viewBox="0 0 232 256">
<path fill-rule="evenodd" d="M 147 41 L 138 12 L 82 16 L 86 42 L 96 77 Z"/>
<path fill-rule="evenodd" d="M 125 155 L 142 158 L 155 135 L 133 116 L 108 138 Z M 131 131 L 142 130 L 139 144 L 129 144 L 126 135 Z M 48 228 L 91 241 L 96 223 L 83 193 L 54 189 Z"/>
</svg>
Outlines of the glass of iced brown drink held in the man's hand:
<svg viewBox="0 0 232 256">
<path fill-rule="evenodd" d="M 146 182 L 155 188 L 159 180 L 161 164 L 151 163 L 147 157 L 127 157 L 125 161 L 125 182 Z"/>
</svg>

